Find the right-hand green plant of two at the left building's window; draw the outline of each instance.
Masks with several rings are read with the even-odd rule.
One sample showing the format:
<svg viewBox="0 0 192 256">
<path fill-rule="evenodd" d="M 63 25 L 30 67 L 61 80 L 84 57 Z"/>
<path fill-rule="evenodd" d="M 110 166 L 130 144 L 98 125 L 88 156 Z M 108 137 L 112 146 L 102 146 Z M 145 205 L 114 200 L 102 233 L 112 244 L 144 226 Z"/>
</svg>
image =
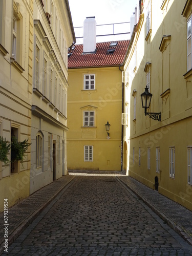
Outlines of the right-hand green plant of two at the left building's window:
<svg viewBox="0 0 192 256">
<path fill-rule="evenodd" d="M 15 161 L 24 161 L 24 155 L 27 151 L 28 146 L 31 143 L 28 143 L 28 139 L 24 141 L 18 141 L 15 136 L 11 138 L 11 162 Z"/>
</svg>

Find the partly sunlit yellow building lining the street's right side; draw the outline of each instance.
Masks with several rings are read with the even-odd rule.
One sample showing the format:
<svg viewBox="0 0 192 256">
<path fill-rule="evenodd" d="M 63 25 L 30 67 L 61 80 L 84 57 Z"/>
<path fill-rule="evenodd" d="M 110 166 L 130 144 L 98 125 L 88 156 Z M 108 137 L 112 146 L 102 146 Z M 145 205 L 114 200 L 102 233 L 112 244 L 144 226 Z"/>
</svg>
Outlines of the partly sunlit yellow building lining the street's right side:
<svg viewBox="0 0 192 256">
<path fill-rule="evenodd" d="M 124 62 L 127 175 L 192 209 L 191 1 L 139 2 Z M 144 114 L 146 86 L 160 121 Z"/>
</svg>

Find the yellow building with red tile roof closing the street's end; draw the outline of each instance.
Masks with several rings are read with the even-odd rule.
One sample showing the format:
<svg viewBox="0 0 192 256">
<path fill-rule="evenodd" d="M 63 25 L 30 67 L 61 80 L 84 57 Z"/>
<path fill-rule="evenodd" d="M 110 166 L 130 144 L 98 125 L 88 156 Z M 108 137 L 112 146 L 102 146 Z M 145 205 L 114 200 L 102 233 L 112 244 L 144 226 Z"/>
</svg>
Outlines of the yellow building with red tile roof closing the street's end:
<svg viewBox="0 0 192 256">
<path fill-rule="evenodd" d="M 121 170 L 122 82 L 119 65 L 129 41 L 76 45 L 69 53 L 68 169 Z M 110 47 L 111 45 L 111 47 Z M 114 50 L 108 53 L 108 50 Z M 120 59 L 117 58 L 121 51 Z M 109 137 L 105 124 L 111 124 Z"/>
</svg>

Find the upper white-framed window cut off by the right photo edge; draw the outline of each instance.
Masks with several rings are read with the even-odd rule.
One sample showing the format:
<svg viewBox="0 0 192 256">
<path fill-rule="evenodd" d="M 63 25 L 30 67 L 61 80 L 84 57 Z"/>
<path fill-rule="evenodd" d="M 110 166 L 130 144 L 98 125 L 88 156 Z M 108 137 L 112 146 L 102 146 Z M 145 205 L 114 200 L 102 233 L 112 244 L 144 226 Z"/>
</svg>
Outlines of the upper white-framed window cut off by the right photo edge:
<svg viewBox="0 0 192 256">
<path fill-rule="evenodd" d="M 189 27 L 188 27 L 189 25 Z M 192 33 L 192 15 L 187 20 L 187 71 L 192 68 L 192 42 L 191 42 L 191 33 Z"/>
</svg>

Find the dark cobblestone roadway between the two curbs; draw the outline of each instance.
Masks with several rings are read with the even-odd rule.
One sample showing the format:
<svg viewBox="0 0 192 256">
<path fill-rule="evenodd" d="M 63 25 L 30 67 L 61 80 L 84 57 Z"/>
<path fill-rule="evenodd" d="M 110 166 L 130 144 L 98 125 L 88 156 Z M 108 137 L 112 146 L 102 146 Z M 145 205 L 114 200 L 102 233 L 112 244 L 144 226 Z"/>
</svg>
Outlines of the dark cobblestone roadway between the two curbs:
<svg viewBox="0 0 192 256">
<path fill-rule="evenodd" d="M 192 246 L 119 177 L 76 175 L 8 254 L 192 255 Z"/>
</svg>

